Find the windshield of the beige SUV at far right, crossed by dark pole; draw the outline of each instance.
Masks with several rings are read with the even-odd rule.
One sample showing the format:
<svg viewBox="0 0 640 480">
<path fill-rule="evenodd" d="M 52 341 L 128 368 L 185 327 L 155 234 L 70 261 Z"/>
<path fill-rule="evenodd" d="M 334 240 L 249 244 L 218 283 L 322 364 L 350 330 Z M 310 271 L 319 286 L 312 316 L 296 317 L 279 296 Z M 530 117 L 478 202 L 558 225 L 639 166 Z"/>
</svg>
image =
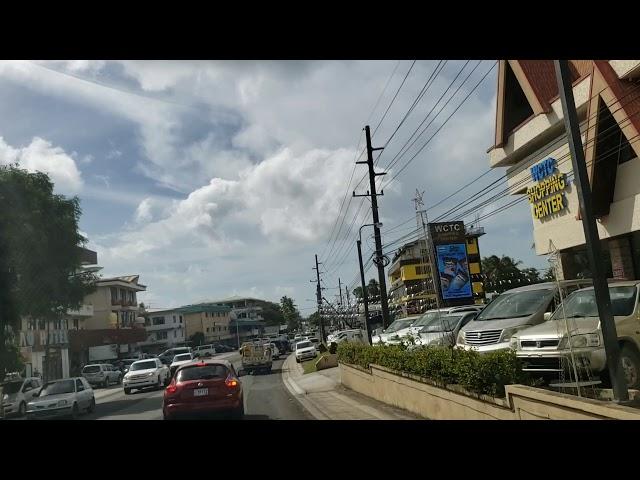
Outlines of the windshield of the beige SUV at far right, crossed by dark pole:
<svg viewBox="0 0 640 480">
<path fill-rule="evenodd" d="M 611 309 L 615 317 L 628 317 L 633 313 L 636 291 L 636 287 L 609 287 Z M 565 315 L 567 318 L 598 317 L 595 291 L 590 289 L 572 293 L 564 301 L 564 305 L 556 309 L 551 320 L 564 320 Z"/>
</svg>

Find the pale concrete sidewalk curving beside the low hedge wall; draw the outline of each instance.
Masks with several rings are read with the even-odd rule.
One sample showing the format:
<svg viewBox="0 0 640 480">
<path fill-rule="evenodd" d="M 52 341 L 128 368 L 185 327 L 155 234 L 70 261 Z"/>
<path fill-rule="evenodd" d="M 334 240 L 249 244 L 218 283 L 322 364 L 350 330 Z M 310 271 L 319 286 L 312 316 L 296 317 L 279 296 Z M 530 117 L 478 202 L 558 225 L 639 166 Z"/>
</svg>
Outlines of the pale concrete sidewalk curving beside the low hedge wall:
<svg viewBox="0 0 640 480">
<path fill-rule="evenodd" d="M 421 419 L 343 387 L 338 367 L 304 375 L 295 356 L 289 355 L 282 365 L 282 381 L 316 420 Z"/>
</svg>

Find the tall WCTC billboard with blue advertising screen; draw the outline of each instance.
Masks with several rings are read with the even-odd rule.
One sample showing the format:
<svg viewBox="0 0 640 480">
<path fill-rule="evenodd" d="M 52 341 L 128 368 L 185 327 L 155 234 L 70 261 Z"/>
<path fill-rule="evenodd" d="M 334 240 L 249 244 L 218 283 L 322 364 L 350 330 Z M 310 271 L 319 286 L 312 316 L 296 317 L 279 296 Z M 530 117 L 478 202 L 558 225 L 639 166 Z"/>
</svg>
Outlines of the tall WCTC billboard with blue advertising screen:
<svg viewBox="0 0 640 480">
<path fill-rule="evenodd" d="M 430 223 L 442 299 L 454 305 L 473 299 L 464 222 Z"/>
</svg>

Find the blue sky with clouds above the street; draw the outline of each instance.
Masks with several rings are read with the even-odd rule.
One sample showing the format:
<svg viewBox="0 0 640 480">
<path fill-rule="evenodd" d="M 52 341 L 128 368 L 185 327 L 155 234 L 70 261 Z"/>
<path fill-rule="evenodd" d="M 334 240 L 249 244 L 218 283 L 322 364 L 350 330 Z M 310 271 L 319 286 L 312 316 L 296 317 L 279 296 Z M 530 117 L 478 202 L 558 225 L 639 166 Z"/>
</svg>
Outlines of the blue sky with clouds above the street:
<svg viewBox="0 0 640 480">
<path fill-rule="evenodd" d="M 391 252 L 415 229 L 416 189 L 433 220 L 504 178 L 495 169 L 442 201 L 489 170 L 494 65 L 3 61 L 0 163 L 46 172 L 57 193 L 78 196 L 80 229 L 101 273 L 140 275 L 147 291 L 138 298 L 148 307 L 288 295 L 306 316 L 315 309 L 315 254 L 329 301 L 338 278 L 351 289 L 359 282 L 357 230 L 372 222 L 369 200 L 351 198 L 369 189 L 368 179 L 360 182 L 366 165 L 354 163 L 363 159 L 364 125 L 373 146 L 385 146 L 374 158 L 386 172 L 378 204 Z M 523 202 L 481 220 L 481 254 L 546 268 L 532 248 L 529 208 Z M 362 235 L 366 260 L 371 228 Z"/>
</svg>

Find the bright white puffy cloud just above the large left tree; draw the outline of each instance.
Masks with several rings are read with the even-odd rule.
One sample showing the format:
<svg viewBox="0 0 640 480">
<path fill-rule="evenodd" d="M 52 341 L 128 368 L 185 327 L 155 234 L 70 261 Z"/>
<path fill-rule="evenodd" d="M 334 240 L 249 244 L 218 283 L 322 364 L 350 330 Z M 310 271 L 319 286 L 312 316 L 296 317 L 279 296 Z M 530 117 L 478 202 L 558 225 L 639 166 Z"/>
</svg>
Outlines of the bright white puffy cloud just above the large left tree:
<svg viewBox="0 0 640 480">
<path fill-rule="evenodd" d="M 83 181 L 75 160 L 40 137 L 34 137 L 23 148 L 14 148 L 0 137 L 0 164 L 9 163 L 18 163 L 30 172 L 47 173 L 59 193 L 75 194 L 82 190 Z"/>
</svg>

